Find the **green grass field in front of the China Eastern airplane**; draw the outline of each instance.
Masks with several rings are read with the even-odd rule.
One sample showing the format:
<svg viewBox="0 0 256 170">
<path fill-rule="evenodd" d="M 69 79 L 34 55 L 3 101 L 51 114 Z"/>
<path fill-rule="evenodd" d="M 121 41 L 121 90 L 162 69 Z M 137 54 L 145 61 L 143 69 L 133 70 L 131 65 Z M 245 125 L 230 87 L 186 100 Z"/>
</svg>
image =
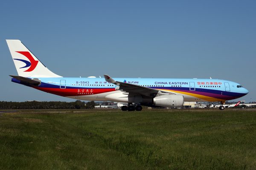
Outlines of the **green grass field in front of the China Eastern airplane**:
<svg viewBox="0 0 256 170">
<path fill-rule="evenodd" d="M 0 169 L 256 169 L 255 113 L 242 109 L 3 113 Z"/>
</svg>

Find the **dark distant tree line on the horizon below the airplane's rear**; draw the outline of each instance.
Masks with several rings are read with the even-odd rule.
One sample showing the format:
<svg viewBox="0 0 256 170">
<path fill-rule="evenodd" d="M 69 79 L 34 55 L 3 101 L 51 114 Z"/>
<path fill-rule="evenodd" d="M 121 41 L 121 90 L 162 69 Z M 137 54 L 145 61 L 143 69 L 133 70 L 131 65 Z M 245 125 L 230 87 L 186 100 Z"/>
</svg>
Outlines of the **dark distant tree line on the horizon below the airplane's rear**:
<svg viewBox="0 0 256 170">
<path fill-rule="evenodd" d="M 0 109 L 92 109 L 95 102 L 0 102 Z"/>
</svg>

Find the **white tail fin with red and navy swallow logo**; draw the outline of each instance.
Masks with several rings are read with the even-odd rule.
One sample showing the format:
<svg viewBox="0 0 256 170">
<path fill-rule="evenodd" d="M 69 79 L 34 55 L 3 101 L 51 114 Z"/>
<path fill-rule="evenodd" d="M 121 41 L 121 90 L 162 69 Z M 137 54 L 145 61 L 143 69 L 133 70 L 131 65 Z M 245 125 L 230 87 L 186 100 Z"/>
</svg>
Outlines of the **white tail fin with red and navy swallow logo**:
<svg viewBox="0 0 256 170">
<path fill-rule="evenodd" d="M 61 77 L 49 71 L 20 40 L 6 40 L 6 42 L 19 76 Z"/>
</svg>

